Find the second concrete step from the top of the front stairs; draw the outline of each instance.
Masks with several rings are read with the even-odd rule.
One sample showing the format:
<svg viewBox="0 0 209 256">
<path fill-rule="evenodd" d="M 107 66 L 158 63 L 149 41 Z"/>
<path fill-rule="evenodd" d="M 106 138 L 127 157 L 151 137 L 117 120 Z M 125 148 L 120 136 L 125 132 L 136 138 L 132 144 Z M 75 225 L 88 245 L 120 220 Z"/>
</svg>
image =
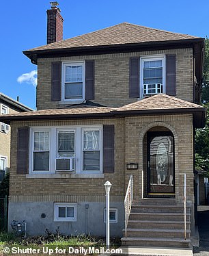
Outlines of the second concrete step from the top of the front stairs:
<svg viewBox="0 0 209 256">
<path fill-rule="evenodd" d="M 184 214 L 184 208 L 180 205 L 132 205 L 131 212 L 175 212 Z M 190 208 L 186 208 L 186 213 L 190 213 Z"/>
</svg>

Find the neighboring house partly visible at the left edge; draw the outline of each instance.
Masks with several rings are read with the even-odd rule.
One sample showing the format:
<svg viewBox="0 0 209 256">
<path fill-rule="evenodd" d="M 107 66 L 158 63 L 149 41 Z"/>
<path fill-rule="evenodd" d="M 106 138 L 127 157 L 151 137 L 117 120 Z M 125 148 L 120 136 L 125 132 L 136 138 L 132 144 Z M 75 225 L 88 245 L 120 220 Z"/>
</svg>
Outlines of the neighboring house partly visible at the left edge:
<svg viewBox="0 0 209 256">
<path fill-rule="evenodd" d="M 27 111 L 32 110 L 0 92 L 0 115 Z M 10 125 L 0 122 L 0 182 L 8 168 L 10 168 Z"/>
</svg>

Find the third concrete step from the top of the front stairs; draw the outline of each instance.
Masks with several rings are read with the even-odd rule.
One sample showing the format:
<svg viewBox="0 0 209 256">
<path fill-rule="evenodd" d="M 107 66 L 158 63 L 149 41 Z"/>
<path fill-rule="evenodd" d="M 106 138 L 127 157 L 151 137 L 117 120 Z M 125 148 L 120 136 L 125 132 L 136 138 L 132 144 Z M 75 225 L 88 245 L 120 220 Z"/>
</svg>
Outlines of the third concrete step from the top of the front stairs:
<svg viewBox="0 0 209 256">
<path fill-rule="evenodd" d="M 190 215 L 191 214 L 186 214 L 186 221 L 190 221 Z M 184 214 L 164 212 L 130 212 L 129 220 L 184 221 Z"/>
</svg>

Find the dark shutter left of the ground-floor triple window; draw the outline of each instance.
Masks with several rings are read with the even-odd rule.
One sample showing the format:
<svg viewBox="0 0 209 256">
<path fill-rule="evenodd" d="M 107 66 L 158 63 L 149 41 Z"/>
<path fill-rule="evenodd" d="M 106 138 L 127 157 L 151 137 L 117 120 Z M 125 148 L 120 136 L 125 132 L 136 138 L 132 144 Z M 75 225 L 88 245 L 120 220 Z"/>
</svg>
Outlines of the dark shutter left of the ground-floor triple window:
<svg viewBox="0 0 209 256">
<path fill-rule="evenodd" d="M 29 127 L 18 128 L 16 173 L 27 174 L 29 167 Z"/>
</svg>

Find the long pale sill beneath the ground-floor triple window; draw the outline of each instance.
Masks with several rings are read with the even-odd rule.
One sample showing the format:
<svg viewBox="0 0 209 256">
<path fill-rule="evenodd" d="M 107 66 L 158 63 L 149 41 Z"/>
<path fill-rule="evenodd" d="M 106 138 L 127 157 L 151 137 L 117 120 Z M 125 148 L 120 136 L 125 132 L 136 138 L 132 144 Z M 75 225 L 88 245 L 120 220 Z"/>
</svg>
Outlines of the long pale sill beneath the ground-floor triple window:
<svg viewBox="0 0 209 256">
<path fill-rule="evenodd" d="M 104 173 L 98 173 L 98 174 L 76 174 L 74 172 L 72 173 L 51 173 L 51 174 L 29 174 L 26 175 L 26 178 L 28 179 L 90 179 L 90 178 L 97 178 L 102 179 L 104 178 Z"/>
</svg>

